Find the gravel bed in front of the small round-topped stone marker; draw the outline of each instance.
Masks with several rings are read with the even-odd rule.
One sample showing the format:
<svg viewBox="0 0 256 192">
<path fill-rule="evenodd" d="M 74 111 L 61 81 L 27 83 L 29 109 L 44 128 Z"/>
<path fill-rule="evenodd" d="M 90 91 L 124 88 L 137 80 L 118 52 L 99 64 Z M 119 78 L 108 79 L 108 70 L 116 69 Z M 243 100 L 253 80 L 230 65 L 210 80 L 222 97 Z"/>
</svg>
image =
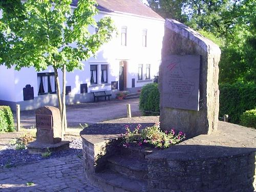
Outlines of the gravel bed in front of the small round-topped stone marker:
<svg viewBox="0 0 256 192">
<path fill-rule="evenodd" d="M 52 153 L 49 157 L 42 157 L 41 155 L 29 154 L 27 149 L 15 150 L 14 145 L 9 145 L 6 150 L 0 151 L 0 168 L 24 165 L 46 159 L 65 157 L 68 155 L 77 155 L 78 157 L 81 157 L 82 139 L 69 138 L 69 140 L 71 141 L 69 150 L 63 150 L 60 152 Z"/>
</svg>

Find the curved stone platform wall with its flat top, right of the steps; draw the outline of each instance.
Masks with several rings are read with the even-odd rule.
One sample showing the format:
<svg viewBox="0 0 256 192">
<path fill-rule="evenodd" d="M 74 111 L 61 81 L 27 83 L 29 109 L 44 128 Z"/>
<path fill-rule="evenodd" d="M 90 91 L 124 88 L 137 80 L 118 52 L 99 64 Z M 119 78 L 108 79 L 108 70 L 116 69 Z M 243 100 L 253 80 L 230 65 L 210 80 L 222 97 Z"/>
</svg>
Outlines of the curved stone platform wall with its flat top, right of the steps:
<svg viewBox="0 0 256 192">
<path fill-rule="evenodd" d="M 214 134 L 146 156 L 148 190 L 252 192 L 256 189 L 255 152 L 253 129 L 219 121 Z"/>
</svg>

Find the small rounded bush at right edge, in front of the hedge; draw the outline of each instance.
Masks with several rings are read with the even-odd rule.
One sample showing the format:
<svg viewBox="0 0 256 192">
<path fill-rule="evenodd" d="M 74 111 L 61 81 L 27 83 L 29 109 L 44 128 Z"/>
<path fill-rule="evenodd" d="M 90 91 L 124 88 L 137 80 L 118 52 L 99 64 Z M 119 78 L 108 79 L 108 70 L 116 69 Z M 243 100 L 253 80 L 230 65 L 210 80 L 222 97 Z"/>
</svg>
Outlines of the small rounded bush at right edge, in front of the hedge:
<svg viewBox="0 0 256 192">
<path fill-rule="evenodd" d="M 244 112 L 240 117 L 240 124 L 256 129 L 256 109 Z"/>
</svg>

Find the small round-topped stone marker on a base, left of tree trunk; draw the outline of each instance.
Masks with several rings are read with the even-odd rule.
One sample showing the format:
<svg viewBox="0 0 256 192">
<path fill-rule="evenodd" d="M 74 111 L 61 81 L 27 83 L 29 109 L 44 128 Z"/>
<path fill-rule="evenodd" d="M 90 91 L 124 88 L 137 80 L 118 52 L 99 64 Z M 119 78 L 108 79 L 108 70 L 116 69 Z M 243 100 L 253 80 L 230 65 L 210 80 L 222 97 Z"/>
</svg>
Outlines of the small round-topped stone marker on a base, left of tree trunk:
<svg viewBox="0 0 256 192">
<path fill-rule="evenodd" d="M 69 141 L 61 141 L 60 112 L 54 106 L 36 110 L 36 141 L 28 144 L 29 153 L 59 151 L 69 148 Z"/>
</svg>

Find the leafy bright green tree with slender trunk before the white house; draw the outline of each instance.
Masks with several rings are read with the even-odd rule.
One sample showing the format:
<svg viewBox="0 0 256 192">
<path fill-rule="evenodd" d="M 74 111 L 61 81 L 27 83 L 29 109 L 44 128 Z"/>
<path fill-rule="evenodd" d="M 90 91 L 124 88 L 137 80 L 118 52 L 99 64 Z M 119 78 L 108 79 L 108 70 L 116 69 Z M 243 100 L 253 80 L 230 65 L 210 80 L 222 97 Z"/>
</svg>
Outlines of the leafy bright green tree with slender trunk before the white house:
<svg viewBox="0 0 256 192">
<path fill-rule="evenodd" d="M 66 123 L 66 70 L 82 69 L 82 60 L 95 55 L 115 30 L 110 17 L 95 22 L 96 0 L 7 0 L 0 2 L 0 63 L 15 70 L 34 67 L 36 71 L 52 66 L 57 86 L 62 134 Z M 98 28 L 91 34 L 89 27 Z M 0 64 L 1 65 L 1 64 Z M 63 73 L 62 95 L 57 69 Z M 63 137 L 63 135 L 62 135 Z"/>
</svg>

